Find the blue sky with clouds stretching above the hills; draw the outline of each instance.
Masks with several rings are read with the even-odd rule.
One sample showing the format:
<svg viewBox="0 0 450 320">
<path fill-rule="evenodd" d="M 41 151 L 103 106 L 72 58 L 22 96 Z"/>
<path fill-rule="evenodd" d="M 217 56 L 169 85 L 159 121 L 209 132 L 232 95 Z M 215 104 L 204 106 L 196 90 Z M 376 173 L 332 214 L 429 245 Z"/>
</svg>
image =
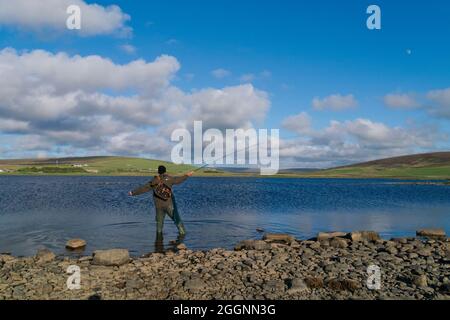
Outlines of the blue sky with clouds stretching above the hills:
<svg viewBox="0 0 450 320">
<path fill-rule="evenodd" d="M 167 75 L 168 86 L 183 95 L 182 101 L 177 98 L 168 103 L 170 108 L 180 104 L 183 111 L 191 114 L 195 112 L 190 108 L 196 108 L 193 101 L 201 105 L 203 112 L 214 113 L 209 102 L 200 100 L 207 99 L 208 89 L 213 94 L 217 92 L 214 90 L 249 85 L 257 91 L 256 95 L 265 95 L 261 101 L 256 99 L 255 105 L 250 107 L 245 101 L 242 106 L 227 106 L 228 102 L 223 102 L 222 108 L 229 108 L 230 112 L 233 108 L 242 110 L 246 107 L 257 110 L 255 117 L 252 112 L 244 112 L 242 118 L 235 119 L 236 126 L 251 123 L 255 127 L 280 128 L 285 166 L 331 166 L 412 152 L 448 150 L 450 4 L 444 1 L 95 3 L 102 8 L 116 5 L 120 14 L 130 19 L 125 17 L 107 32 L 86 35 L 64 30 L 64 26 L 60 28 L 55 22 L 58 19 L 48 18 L 46 22 L 45 18 L 36 18 L 35 23 L 28 24 L 20 13 L 8 8 L 12 11 L 7 17 L 0 14 L 0 48 L 16 50 L 14 55 L 18 57 L 18 63 L 23 60 L 20 58 L 24 58 L 24 52 L 36 49 L 49 54 L 64 52 L 68 57 L 97 55 L 111 59 L 115 65 L 128 65 L 138 59 L 151 63 L 161 55 L 168 55 L 179 64 L 179 69 Z M 366 9 L 370 4 L 381 8 L 381 30 L 366 27 Z M 0 1 L 0 12 L 2 5 L 5 6 L 4 1 Z M 45 7 L 42 14 L 45 12 L 51 17 L 60 14 L 56 8 L 53 12 L 52 8 Z M 108 14 L 104 17 L 108 19 Z M 128 31 L 124 35 L 125 29 Z M 36 72 L 33 69 L 23 73 L 29 76 Z M 66 71 L 63 68 L 58 72 Z M 114 77 L 114 74 L 105 76 Z M 53 80 L 47 79 L 49 86 Z M 68 86 L 71 86 L 70 92 L 79 92 L 74 82 Z M 99 85 L 92 91 L 110 97 L 137 94 L 164 103 L 168 96 L 172 97 L 172 90 L 167 87 L 164 90 L 170 93 L 161 98 L 148 97 L 142 89 L 133 86 L 119 89 L 110 86 Z M 58 90 L 52 92 L 67 98 L 67 91 Z M 83 90 L 93 94 L 89 88 Z M 203 91 L 204 95 L 195 95 Z M 317 99 L 315 105 L 313 99 Z M 11 100 L 14 99 L 0 100 L 0 105 L 13 104 Z M 70 138 L 65 141 L 60 135 L 55 138 L 58 130 L 62 130 L 56 128 L 58 121 L 73 122 L 74 128 L 78 126 L 80 130 L 82 127 L 88 132 L 90 127 L 80 125 L 80 121 L 92 114 L 67 112 L 52 119 L 55 123 L 50 124 L 49 119 L 42 117 L 36 120 L 14 116 L 11 112 L 14 106 L 7 107 L 9 111 L 0 112 L 0 117 L 4 121 L 21 123 L 20 130 L 11 130 L 12 125 L 8 122 L 10 129 L 2 131 L 0 122 L 0 141 L 7 146 L 3 148 L 4 157 L 67 153 L 167 155 L 169 144 L 163 141 L 167 140 L 167 133 L 161 124 L 146 124 L 145 127 L 131 122 L 119 123 L 123 119 L 114 111 L 114 125 L 132 127 L 126 132 L 92 131 L 93 140 L 98 138 L 93 146 L 87 142 L 92 140 L 87 136 L 80 136 L 76 141 Z M 172 110 L 171 115 L 173 113 Z M 188 116 L 174 118 L 158 114 L 158 117 L 170 126 L 192 120 Z M 205 119 L 211 117 L 205 116 Z M 28 123 L 28 129 L 23 128 L 22 122 Z M 56 131 L 47 130 L 45 123 Z M 225 126 L 230 122 L 222 124 L 214 119 L 211 120 L 213 124 Z M 133 136 L 136 132 L 148 134 L 149 139 L 157 137 L 161 140 L 158 147 L 144 142 L 132 148 L 124 147 L 126 139 L 137 141 Z M 70 133 L 67 135 L 71 136 Z M 120 139 L 111 141 L 114 135 Z M 145 140 L 145 137 L 139 139 Z M 117 141 L 120 147 L 117 147 Z"/>
</svg>

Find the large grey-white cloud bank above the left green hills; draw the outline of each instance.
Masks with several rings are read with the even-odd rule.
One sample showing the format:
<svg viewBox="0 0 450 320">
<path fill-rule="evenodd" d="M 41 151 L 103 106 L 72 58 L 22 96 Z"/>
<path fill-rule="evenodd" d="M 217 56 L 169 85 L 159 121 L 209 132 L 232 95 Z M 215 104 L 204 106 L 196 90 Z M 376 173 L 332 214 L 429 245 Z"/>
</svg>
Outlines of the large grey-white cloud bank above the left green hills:
<svg viewBox="0 0 450 320">
<path fill-rule="evenodd" d="M 270 107 L 250 84 L 185 92 L 172 84 L 180 64 L 163 55 L 117 64 L 101 56 L 0 51 L 0 133 L 8 154 L 139 154 L 166 158 L 171 130 L 203 120 L 236 128 Z M 2 135 L 0 134 L 0 137 Z"/>
</svg>

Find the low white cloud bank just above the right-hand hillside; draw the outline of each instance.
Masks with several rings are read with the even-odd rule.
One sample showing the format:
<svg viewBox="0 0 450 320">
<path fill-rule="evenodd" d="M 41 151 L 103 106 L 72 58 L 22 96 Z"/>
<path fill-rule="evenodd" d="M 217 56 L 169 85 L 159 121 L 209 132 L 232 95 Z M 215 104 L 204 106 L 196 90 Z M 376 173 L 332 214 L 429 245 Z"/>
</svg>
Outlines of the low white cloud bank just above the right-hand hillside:
<svg viewBox="0 0 450 320">
<path fill-rule="evenodd" d="M 302 121 L 304 125 L 295 126 Z M 280 143 L 280 156 L 285 162 L 303 167 L 332 167 L 433 150 L 438 141 L 446 139 L 436 128 L 426 126 L 390 127 L 369 119 L 355 119 L 331 121 L 327 127 L 313 130 L 310 121 L 306 113 L 284 121 L 286 127 L 299 133 L 298 137 Z"/>
</svg>

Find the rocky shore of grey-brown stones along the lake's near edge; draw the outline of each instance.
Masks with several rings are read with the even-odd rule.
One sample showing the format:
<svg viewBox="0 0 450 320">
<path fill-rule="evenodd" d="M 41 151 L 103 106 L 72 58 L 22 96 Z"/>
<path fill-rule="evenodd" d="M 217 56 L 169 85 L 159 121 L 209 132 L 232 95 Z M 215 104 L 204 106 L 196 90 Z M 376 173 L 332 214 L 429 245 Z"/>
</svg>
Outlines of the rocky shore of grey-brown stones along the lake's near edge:
<svg viewBox="0 0 450 320">
<path fill-rule="evenodd" d="M 333 232 L 301 241 L 266 234 L 263 240 L 242 241 L 234 250 L 191 251 L 181 244 L 175 251 L 139 258 L 121 249 L 81 258 L 48 250 L 34 257 L 0 255 L 0 300 L 448 300 L 449 239 L 442 230 L 418 235 L 383 240 L 370 231 Z M 79 289 L 68 288 L 68 279 L 73 281 L 69 266 L 79 267 Z M 368 273 L 369 266 L 369 271 L 379 268 L 379 282 Z"/>
</svg>

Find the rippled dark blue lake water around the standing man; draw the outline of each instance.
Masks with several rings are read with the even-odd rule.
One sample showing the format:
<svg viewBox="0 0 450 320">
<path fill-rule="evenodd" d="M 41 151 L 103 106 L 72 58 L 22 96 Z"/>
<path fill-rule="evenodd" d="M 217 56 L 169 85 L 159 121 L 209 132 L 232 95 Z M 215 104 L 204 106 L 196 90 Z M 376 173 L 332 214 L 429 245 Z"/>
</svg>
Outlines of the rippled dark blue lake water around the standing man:
<svg viewBox="0 0 450 320">
<path fill-rule="evenodd" d="M 0 176 L 0 252 L 66 254 L 82 238 L 85 254 L 126 248 L 155 250 L 151 193 L 129 197 L 146 177 Z M 300 239 L 319 231 L 375 230 L 414 236 L 423 227 L 450 231 L 450 187 L 379 179 L 190 178 L 174 188 L 191 249 L 232 248 L 256 230 Z M 167 217 L 164 246 L 177 231 Z M 161 247 L 158 245 L 158 249 Z"/>
</svg>

